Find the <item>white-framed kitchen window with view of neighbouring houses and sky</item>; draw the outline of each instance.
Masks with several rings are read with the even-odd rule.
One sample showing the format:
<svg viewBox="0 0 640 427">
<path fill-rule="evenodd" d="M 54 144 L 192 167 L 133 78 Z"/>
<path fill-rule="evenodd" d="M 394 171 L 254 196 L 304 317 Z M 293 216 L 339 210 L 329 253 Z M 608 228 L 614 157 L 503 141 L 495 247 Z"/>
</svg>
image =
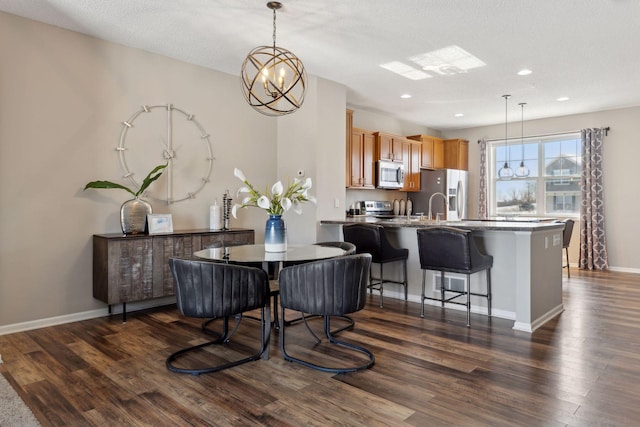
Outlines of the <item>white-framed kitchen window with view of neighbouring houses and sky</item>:
<svg viewBox="0 0 640 427">
<path fill-rule="evenodd" d="M 504 140 L 488 149 L 489 215 L 577 215 L 580 210 L 582 156 L 580 134 Z M 516 170 L 520 162 L 529 176 L 497 179 L 505 162 Z"/>
</svg>

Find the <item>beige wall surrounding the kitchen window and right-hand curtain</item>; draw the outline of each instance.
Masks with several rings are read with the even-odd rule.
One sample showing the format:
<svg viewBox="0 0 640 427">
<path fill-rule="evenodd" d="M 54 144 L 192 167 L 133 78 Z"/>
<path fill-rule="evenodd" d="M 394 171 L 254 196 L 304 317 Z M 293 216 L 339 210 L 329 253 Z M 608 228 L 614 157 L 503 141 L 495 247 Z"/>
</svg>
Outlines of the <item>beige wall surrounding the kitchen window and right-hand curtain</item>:
<svg viewBox="0 0 640 427">
<path fill-rule="evenodd" d="M 640 223 L 635 213 L 640 210 L 640 191 L 635 173 L 640 158 L 640 134 L 638 133 L 640 107 L 601 111 L 589 114 L 554 117 L 525 121 L 525 136 L 568 132 L 584 128 L 609 126 L 609 136 L 604 138 L 603 170 L 605 229 L 609 265 L 612 270 L 640 273 L 640 252 L 636 236 L 640 235 Z M 518 123 L 519 124 L 519 123 Z M 520 136 L 520 126 L 508 126 L 509 136 Z M 469 140 L 470 191 L 469 212 L 478 212 L 478 165 L 481 138 L 504 138 L 504 123 L 472 129 L 444 132 L 445 138 Z M 579 225 L 576 223 L 571 241 L 570 259 L 578 261 L 580 245 Z"/>
</svg>

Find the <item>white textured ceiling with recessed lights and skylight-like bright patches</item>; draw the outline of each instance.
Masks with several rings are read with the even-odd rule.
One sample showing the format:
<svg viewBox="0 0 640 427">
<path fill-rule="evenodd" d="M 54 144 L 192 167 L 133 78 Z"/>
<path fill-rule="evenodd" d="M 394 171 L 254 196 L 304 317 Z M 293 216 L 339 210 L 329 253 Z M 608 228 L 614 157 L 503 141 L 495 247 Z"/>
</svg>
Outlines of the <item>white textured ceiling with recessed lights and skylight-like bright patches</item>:
<svg viewBox="0 0 640 427">
<path fill-rule="evenodd" d="M 308 73 L 344 84 L 356 108 L 444 130 L 504 123 L 506 93 L 509 121 L 520 119 L 519 102 L 525 120 L 640 105 L 637 0 L 282 3 L 278 45 Z M 263 0 L 0 0 L 0 10 L 235 75 L 272 40 Z M 449 46 L 485 65 L 423 80 L 379 66 L 420 69 L 411 58 Z M 533 73 L 516 75 L 522 68 Z"/>
</svg>

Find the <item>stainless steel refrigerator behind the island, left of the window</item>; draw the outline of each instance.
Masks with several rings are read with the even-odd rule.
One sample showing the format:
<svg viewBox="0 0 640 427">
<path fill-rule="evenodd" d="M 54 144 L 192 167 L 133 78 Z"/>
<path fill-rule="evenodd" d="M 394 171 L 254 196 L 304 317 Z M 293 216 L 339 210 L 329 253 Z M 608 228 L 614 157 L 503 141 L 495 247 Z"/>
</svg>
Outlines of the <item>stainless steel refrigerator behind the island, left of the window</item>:
<svg viewBox="0 0 640 427">
<path fill-rule="evenodd" d="M 440 219 L 458 221 L 468 218 L 468 187 L 469 172 L 458 169 L 439 169 L 420 171 L 420 192 L 407 193 L 413 204 L 413 214 L 423 213 L 425 217 L 429 212 L 429 198 L 436 195 L 431 203 L 433 219 L 436 213 L 440 213 Z M 447 208 L 444 199 L 447 200 Z"/>
</svg>

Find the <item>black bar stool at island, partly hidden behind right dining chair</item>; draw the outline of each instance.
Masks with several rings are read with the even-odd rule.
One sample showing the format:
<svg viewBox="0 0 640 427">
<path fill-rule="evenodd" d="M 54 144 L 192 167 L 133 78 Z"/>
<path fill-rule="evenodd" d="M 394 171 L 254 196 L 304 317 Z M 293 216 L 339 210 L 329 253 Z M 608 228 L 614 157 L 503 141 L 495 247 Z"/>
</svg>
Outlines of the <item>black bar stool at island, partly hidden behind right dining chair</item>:
<svg viewBox="0 0 640 427">
<path fill-rule="evenodd" d="M 371 254 L 372 263 L 380 265 L 380 276 L 374 277 L 370 274 L 369 289 L 380 291 L 380 307 L 385 283 L 394 283 L 404 286 L 404 299 L 407 300 L 407 259 L 409 250 L 394 246 L 389 239 L 385 229 L 381 225 L 375 224 L 347 224 L 342 226 L 342 234 L 345 242 L 353 243 L 356 246 L 356 253 Z M 392 262 L 402 262 L 402 280 L 391 280 L 384 276 L 384 265 Z"/>
</svg>

